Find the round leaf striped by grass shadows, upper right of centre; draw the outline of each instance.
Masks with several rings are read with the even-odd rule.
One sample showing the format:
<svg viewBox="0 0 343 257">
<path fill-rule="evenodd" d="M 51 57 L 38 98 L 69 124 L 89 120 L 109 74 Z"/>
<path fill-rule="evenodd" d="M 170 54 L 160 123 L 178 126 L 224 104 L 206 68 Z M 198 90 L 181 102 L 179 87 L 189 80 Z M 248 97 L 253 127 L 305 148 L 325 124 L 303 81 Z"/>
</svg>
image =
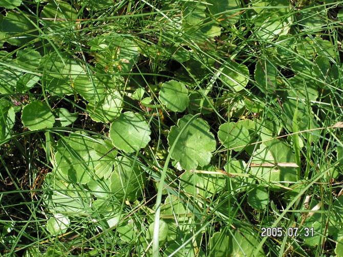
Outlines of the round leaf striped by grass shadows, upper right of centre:
<svg viewBox="0 0 343 257">
<path fill-rule="evenodd" d="M 220 77 L 233 90 L 241 91 L 249 81 L 249 70 L 242 63 L 229 61 L 223 66 Z"/>
</svg>

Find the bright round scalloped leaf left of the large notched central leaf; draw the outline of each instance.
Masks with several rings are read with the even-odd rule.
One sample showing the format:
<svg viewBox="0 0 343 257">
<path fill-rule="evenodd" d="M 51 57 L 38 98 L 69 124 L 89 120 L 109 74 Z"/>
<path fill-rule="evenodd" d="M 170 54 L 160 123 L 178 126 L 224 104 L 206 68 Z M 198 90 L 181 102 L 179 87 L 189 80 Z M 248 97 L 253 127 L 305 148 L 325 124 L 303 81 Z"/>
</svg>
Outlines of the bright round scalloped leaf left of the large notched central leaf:
<svg viewBox="0 0 343 257">
<path fill-rule="evenodd" d="M 150 141 L 151 130 L 148 123 L 138 113 L 122 113 L 111 124 L 110 138 L 118 149 L 126 153 L 139 151 Z"/>
</svg>

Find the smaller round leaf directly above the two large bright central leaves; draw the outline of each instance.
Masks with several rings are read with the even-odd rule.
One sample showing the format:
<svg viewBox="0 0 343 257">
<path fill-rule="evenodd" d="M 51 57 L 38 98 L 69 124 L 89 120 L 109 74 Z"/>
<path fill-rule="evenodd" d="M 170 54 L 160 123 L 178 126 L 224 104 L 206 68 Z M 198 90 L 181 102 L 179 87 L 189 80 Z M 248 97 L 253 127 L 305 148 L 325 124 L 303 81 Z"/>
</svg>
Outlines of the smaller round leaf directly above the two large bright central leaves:
<svg viewBox="0 0 343 257">
<path fill-rule="evenodd" d="M 188 91 L 185 85 L 175 80 L 162 84 L 159 99 L 173 112 L 183 112 L 189 103 Z"/>
</svg>

